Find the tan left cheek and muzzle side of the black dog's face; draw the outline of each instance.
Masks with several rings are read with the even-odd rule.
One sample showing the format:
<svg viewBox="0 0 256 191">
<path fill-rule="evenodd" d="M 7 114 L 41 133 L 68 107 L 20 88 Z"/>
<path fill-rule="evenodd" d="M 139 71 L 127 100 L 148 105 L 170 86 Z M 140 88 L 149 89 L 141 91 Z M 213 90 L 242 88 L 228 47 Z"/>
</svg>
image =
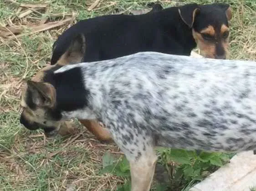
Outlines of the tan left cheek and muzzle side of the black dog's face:
<svg viewBox="0 0 256 191">
<path fill-rule="evenodd" d="M 197 44 L 197 47 L 200 49 L 200 53 L 205 57 L 205 58 L 215 58 L 215 44 L 210 43 L 205 41 L 203 39 L 202 35 L 198 32 L 195 32 L 194 29 L 192 29 L 192 34 L 195 39 L 195 42 Z"/>
</svg>

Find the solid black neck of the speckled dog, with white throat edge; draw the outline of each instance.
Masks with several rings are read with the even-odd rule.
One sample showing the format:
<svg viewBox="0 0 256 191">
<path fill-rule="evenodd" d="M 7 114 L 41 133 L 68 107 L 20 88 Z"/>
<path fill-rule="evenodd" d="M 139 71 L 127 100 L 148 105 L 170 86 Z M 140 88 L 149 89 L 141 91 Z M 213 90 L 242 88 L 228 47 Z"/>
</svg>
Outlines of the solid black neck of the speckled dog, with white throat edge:
<svg viewBox="0 0 256 191">
<path fill-rule="evenodd" d="M 46 71 L 43 79 L 44 82 L 51 83 L 56 90 L 55 113 L 61 113 L 63 119 L 95 118 L 88 108 L 90 92 L 85 87 L 81 69 L 76 67 L 67 72 L 54 73 L 60 67 L 56 65 Z"/>
</svg>

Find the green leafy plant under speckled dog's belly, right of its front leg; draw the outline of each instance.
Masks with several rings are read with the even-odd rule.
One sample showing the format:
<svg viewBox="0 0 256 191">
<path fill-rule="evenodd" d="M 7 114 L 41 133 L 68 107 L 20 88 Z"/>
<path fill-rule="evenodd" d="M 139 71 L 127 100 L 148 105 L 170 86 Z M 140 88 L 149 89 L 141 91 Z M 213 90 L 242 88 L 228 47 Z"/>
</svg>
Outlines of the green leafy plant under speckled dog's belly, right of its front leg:
<svg viewBox="0 0 256 191">
<path fill-rule="evenodd" d="M 183 149 L 158 149 L 160 152 L 160 162 L 165 166 L 170 163 L 174 169 L 171 173 L 172 185 L 191 186 L 197 181 L 217 170 L 229 162 L 233 154 L 219 152 L 201 152 L 199 155 L 195 151 L 186 151 Z"/>
</svg>

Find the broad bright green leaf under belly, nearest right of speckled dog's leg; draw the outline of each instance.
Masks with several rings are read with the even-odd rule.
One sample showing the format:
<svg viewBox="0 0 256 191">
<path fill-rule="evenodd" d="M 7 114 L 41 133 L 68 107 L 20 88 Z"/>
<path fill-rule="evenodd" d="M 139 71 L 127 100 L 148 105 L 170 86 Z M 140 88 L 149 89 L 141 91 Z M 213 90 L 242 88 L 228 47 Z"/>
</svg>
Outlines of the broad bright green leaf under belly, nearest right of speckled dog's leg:
<svg viewBox="0 0 256 191">
<path fill-rule="evenodd" d="M 180 164 L 190 164 L 189 155 L 187 151 L 183 149 L 171 149 L 171 153 L 170 156 L 168 156 L 168 160 Z"/>
</svg>

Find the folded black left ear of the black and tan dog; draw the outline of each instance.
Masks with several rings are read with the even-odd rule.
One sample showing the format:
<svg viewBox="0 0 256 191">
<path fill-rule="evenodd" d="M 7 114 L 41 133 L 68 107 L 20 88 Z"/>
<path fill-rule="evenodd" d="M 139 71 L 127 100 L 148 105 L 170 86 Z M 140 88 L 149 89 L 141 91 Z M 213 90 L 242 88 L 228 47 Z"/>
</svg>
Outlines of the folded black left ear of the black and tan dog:
<svg viewBox="0 0 256 191">
<path fill-rule="evenodd" d="M 200 11 L 196 3 L 188 4 L 179 7 L 179 15 L 183 22 L 192 28 L 195 20 L 195 15 Z"/>
</svg>

